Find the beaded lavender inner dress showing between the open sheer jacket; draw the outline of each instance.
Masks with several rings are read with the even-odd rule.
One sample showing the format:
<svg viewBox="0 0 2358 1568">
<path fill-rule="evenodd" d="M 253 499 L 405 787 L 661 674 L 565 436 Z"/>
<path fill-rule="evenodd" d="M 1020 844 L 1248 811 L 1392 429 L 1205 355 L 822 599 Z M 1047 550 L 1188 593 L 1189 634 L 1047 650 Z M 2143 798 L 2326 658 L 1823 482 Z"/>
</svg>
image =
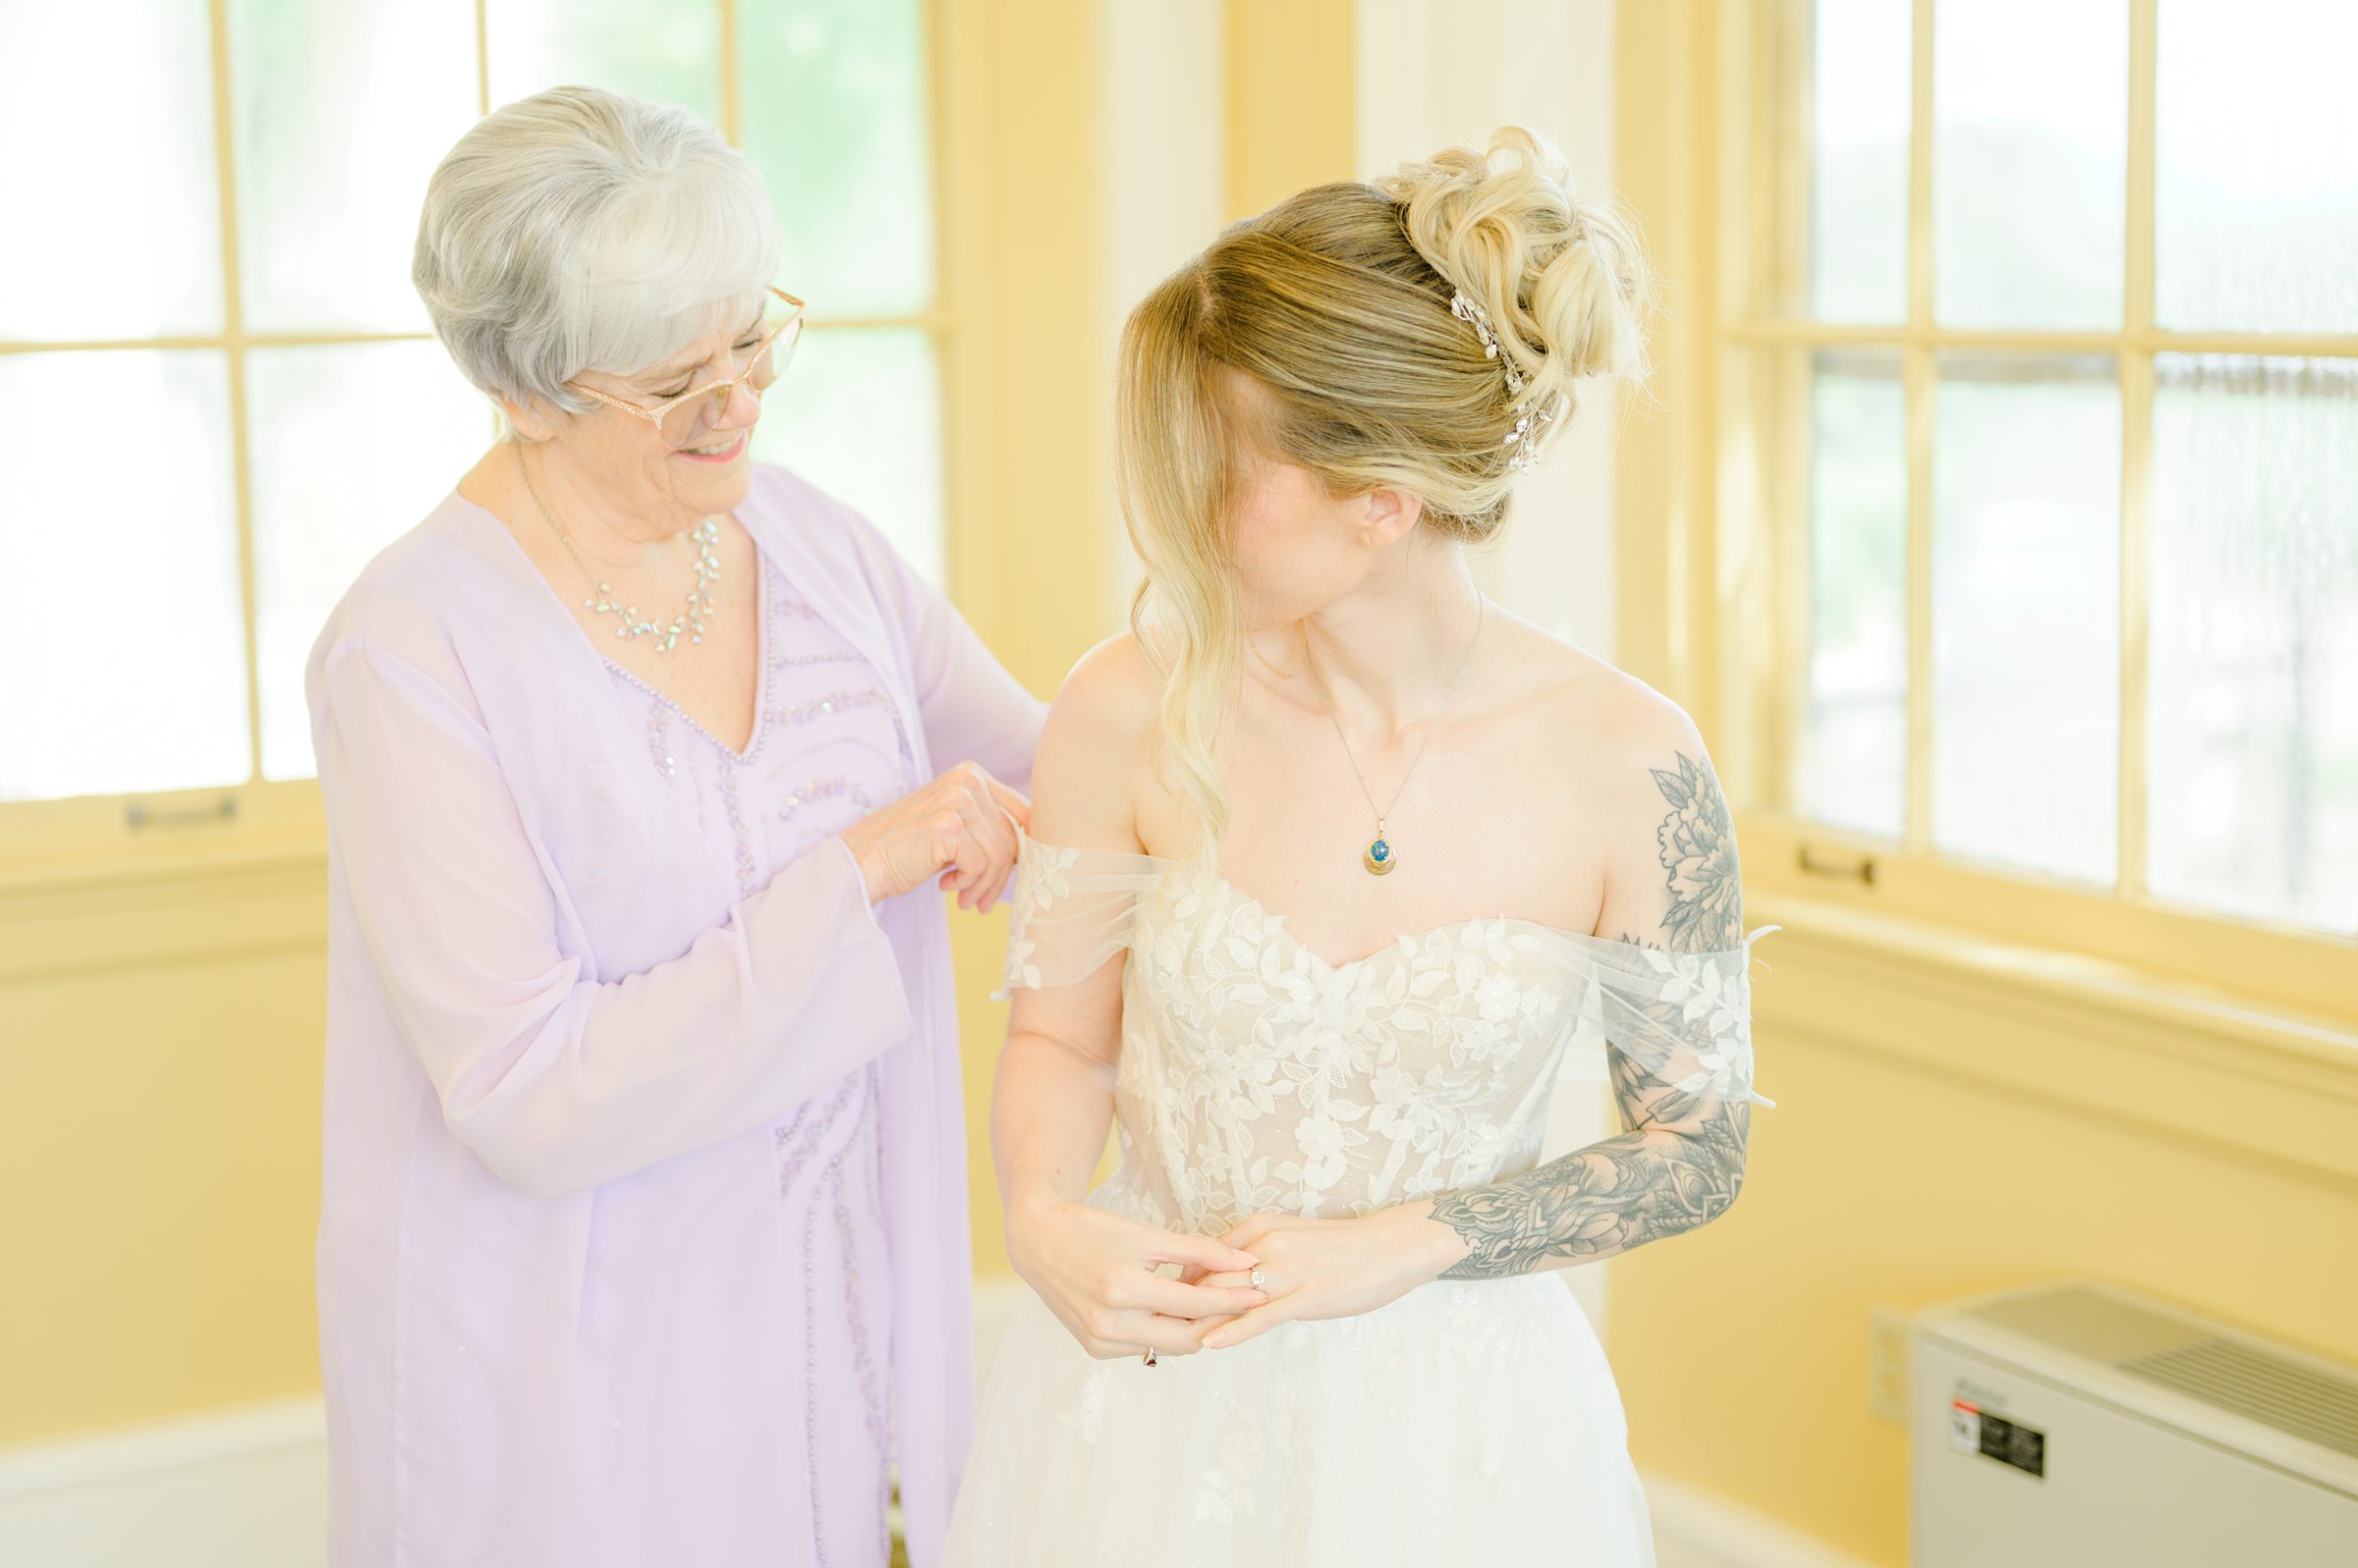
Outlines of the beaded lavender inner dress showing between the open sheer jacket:
<svg viewBox="0 0 2358 1568">
<path fill-rule="evenodd" d="M 757 547 L 759 556 L 759 547 Z M 745 752 L 608 660 L 615 698 L 646 722 L 660 773 L 750 898 L 915 788 L 908 736 L 875 667 L 759 556 L 762 689 Z M 882 1568 L 891 1556 L 891 1257 L 870 1061 L 771 1129 L 778 1247 L 799 1269 L 780 1325 L 809 1386 L 814 1561 Z M 839 1417 L 818 1431 L 818 1412 Z M 851 1412 L 858 1412 L 851 1417 Z M 785 1483 L 792 1483 L 790 1478 Z"/>
</svg>

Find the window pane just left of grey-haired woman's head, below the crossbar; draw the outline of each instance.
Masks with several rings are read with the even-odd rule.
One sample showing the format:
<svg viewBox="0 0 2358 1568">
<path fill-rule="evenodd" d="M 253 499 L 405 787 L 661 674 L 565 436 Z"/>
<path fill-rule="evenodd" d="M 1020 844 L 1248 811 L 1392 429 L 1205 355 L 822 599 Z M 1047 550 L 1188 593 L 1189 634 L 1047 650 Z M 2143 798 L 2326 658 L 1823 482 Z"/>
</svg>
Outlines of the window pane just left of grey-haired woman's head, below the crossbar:
<svg viewBox="0 0 2358 1568">
<path fill-rule="evenodd" d="M 490 413 L 439 342 L 255 349 L 255 634 L 262 773 L 311 773 L 304 658 L 377 549 L 490 446 Z"/>
</svg>

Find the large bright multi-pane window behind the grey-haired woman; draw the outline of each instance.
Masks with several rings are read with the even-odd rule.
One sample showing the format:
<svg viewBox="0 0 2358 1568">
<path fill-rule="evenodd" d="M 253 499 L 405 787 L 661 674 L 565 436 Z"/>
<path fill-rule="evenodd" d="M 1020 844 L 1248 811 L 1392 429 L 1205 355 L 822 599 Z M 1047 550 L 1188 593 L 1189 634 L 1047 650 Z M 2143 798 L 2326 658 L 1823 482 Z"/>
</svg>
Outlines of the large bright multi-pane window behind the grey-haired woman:
<svg viewBox="0 0 2358 1568">
<path fill-rule="evenodd" d="M 0 12 L 0 207 L 45 236 L 0 248 L 0 802 L 210 821 L 311 773 L 311 639 L 493 436 L 408 283 L 427 177 L 488 106 L 556 83 L 686 104 L 752 156 L 783 283 L 811 302 L 755 455 L 941 580 L 927 19 L 924 0 Z M 219 811 L 144 804 L 172 790 Z"/>
</svg>

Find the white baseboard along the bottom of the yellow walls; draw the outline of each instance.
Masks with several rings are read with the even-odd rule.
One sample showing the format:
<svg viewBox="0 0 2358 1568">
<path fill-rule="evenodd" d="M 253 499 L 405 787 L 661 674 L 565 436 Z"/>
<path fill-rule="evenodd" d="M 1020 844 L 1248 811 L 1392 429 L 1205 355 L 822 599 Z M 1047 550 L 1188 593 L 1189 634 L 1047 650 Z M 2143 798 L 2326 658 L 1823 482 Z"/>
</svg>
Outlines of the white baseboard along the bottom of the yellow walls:
<svg viewBox="0 0 2358 1568">
<path fill-rule="evenodd" d="M 1021 1280 L 974 1290 L 986 1377 Z M 1870 1568 L 1681 1481 L 1646 1476 L 1660 1568 Z M 321 1568 L 328 1422 L 316 1398 L 0 1452 L 7 1568 Z"/>
</svg>

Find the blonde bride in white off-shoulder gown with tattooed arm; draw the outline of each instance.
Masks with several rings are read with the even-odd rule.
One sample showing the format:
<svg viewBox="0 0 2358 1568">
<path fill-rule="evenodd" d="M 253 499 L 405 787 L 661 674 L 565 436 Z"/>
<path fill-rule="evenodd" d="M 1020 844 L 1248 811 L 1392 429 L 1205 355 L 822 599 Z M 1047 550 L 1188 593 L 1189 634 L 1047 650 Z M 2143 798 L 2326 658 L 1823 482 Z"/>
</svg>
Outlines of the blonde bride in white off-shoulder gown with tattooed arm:
<svg viewBox="0 0 2358 1568">
<path fill-rule="evenodd" d="M 1146 587 L 1033 773 L 993 1132 L 1035 1299 L 950 1563 L 1653 1561 L 1547 1271 L 1735 1200 L 1735 842 L 1688 717 L 1467 566 L 1575 384 L 1644 373 L 1646 292 L 1509 127 L 1129 316 Z M 1622 1132 L 1540 1165 L 1559 1070 Z"/>
</svg>

